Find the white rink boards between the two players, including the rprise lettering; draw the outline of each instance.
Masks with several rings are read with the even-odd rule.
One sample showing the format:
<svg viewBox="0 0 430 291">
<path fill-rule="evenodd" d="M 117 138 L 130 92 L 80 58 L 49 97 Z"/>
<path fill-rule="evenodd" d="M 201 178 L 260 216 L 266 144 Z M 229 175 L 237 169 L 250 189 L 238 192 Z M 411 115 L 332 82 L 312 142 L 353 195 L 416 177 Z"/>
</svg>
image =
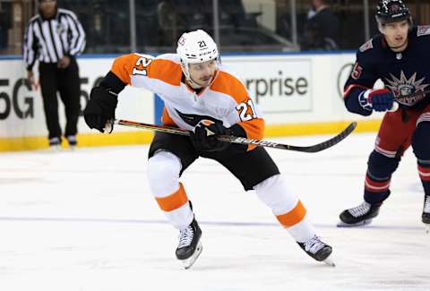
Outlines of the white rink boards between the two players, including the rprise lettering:
<svg viewBox="0 0 430 291">
<path fill-rule="evenodd" d="M 348 113 L 341 95 L 355 57 L 229 56 L 222 61 L 242 77 L 267 124 L 288 124 L 361 119 Z"/>
</svg>

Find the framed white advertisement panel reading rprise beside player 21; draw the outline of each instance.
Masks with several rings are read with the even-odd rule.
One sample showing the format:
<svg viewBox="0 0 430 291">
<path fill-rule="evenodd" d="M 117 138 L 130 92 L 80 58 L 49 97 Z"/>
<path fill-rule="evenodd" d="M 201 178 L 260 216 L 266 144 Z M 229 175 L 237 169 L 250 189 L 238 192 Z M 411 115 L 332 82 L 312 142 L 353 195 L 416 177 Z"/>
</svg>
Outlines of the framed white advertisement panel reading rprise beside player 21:
<svg viewBox="0 0 430 291">
<path fill-rule="evenodd" d="M 263 114 L 313 110 L 311 57 L 232 56 L 223 62 L 239 74 Z"/>
</svg>

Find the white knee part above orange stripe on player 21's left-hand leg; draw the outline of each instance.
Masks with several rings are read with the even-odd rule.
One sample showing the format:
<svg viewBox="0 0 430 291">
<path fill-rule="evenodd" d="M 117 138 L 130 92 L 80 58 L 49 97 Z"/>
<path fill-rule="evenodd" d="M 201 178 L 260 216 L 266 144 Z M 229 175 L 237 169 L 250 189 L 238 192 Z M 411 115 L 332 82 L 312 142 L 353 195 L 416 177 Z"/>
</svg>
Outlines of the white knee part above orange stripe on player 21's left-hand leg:
<svg viewBox="0 0 430 291">
<path fill-rule="evenodd" d="M 168 151 L 159 151 L 148 160 L 150 190 L 156 197 L 174 193 L 179 187 L 181 161 Z"/>
</svg>

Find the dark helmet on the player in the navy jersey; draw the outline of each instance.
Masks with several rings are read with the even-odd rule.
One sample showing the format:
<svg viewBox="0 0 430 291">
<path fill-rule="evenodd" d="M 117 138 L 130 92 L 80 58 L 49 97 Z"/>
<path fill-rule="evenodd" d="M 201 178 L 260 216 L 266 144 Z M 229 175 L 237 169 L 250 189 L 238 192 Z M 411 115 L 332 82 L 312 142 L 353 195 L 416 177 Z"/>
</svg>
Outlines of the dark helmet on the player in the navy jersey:
<svg viewBox="0 0 430 291">
<path fill-rule="evenodd" d="M 389 22 L 408 20 L 412 24 L 412 18 L 406 4 L 401 0 L 381 0 L 376 6 L 376 21 L 379 25 Z"/>
</svg>

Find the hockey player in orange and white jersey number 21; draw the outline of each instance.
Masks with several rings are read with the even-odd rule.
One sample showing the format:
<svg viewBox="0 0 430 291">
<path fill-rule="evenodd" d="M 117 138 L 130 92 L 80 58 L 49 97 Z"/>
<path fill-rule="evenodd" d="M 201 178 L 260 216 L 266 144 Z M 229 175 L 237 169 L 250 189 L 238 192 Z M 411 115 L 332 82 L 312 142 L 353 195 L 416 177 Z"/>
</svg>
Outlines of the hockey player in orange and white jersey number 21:
<svg viewBox="0 0 430 291">
<path fill-rule="evenodd" d="M 105 131 L 105 125 L 115 118 L 117 94 L 126 85 L 157 93 L 165 104 L 163 124 L 191 133 L 190 137 L 155 133 L 148 162 L 151 192 L 179 231 L 176 258 L 185 269 L 202 252 L 202 230 L 180 177 L 199 157 L 218 161 L 236 176 L 245 191 L 255 190 L 308 255 L 332 264 L 331 246 L 316 235 L 304 205 L 288 192 L 287 182 L 266 150 L 216 139 L 219 134 L 262 139 L 264 120 L 245 85 L 220 64 L 218 47 L 211 36 L 203 30 L 184 33 L 177 42 L 176 54 L 116 58 L 103 81 L 91 90 L 84 111 L 90 128 Z"/>
</svg>

